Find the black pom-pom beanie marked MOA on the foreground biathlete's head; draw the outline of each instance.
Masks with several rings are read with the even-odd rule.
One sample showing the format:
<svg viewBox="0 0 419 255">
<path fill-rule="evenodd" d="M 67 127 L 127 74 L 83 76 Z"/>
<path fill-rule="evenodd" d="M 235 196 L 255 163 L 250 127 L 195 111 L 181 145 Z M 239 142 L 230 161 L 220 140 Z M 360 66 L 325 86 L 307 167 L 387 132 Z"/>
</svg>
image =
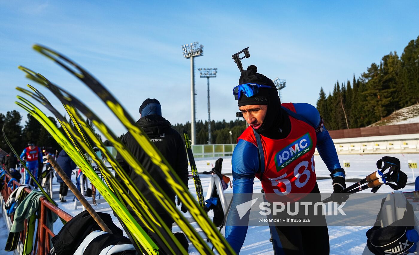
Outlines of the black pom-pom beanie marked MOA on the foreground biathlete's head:
<svg viewBox="0 0 419 255">
<path fill-rule="evenodd" d="M 274 82 L 272 82 L 272 80 L 265 75 L 257 73 L 257 71 L 257 67 L 253 64 L 247 67 L 247 70 L 241 73 L 238 84 L 241 85 L 246 83 L 256 83 L 259 85 L 270 86 L 275 90 L 270 88 L 259 88 L 259 93 L 251 97 L 247 97 L 246 95 L 242 94 L 240 100 L 238 100 L 238 107 L 248 105 L 267 105 L 269 95 L 271 93 L 277 93 Z"/>
</svg>

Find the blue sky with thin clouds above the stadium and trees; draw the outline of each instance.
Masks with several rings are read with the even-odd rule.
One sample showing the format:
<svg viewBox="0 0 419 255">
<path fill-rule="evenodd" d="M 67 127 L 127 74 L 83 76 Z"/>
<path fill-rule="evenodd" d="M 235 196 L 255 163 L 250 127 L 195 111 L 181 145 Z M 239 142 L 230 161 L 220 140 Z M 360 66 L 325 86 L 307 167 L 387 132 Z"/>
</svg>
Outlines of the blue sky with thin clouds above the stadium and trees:
<svg viewBox="0 0 419 255">
<path fill-rule="evenodd" d="M 237 111 L 231 90 L 240 75 L 231 55 L 245 47 L 251 54 L 245 68 L 256 64 L 267 77 L 287 80 L 282 102 L 315 105 L 321 87 L 328 93 L 336 80 L 352 81 L 419 36 L 417 1 L 225 2 L 0 0 L 0 112 L 24 113 L 14 104 L 14 88 L 29 82 L 17 69 L 21 64 L 77 95 L 116 134 L 124 133 L 85 85 L 31 49 L 35 43 L 85 67 L 135 119 L 145 98 L 157 98 L 163 116 L 176 124 L 191 119 L 190 62 L 182 44 L 204 45 L 195 67 L 218 68 L 210 80 L 211 117 L 229 121 Z M 206 79 L 197 75 L 195 81 L 197 120 L 205 120 Z M 40 90 L 64 113 L 53 95 Z"/>
</svg>

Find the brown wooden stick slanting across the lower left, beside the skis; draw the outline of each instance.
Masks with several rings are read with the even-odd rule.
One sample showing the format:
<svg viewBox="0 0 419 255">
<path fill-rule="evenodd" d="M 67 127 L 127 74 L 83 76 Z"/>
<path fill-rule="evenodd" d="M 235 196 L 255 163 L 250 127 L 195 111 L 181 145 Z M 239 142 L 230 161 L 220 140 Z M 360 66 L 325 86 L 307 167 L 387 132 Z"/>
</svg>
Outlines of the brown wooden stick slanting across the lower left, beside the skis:
<svg viewBox="0 0 419 255">
<path fill-rule="evenodd" d="M 101 227 L 101 229 L 105 232 L 112 233 L 111 229 L 109 229 L 109 227 L 106 226 L 106 224 L 103 222 L 101 217 L 99 217 L 99 215 L 90 205 L 90 203 L 86 200 L 86 198 L 84 198 L 84 196 L 80 193 L 80 191 L 77 189 L 74 183 L 65 174 L 64 170 L 62 170 L 62 168 L 58 165 L 57 161 L 54 160 L 54 157 L 52 157 L 51 155 L 48 155 L 47 160 L 49 161 L 49 164 L 51 164 L 51 166 L 54 167 L 54 170 L 57 172 L 59 177 L 61 177 L 61 179 L 68 186 L 68 188 L 70 188 L 72 193 L 74 193 L 74 195 L 80 201 L 80 203 L 86 208 L 86 210 L 89 212 L 92 218 L 96 221 L 99 227 Z"/>
</svg>

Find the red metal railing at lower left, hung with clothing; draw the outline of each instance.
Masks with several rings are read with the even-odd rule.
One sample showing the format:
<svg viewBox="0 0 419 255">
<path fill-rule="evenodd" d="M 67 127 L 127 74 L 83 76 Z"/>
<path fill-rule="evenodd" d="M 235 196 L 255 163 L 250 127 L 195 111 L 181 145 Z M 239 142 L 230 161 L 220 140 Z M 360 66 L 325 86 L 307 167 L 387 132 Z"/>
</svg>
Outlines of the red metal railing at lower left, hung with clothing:
<svg viewBox="0 0 419 255">
<path fill-rule="evenodd" d="M 13 180 L 12 182 L 13 190 L 12 190 L 12 188 L 8 187 L 7 185 L 10 179 L 11 177 L 9 175 L 5 175 L 5 180 L 4 180 L 5 185 L 3 185 L 3 188 L 0 191 L 1 195 L 3 196 L 4 202 L 8 200 L 12 191 L 14 191 L 20 185 L 20 183 Z M 31 190 L 28 188 L 25 188 L 24 191 L 27 193 L 31 192 Z M 41 213 L 39 215 L 39 219 L 37 219 L 38 224 L 37 224 L 37 229 L 36 229 L 36 236 L 34 238 L 35 240 L 34 249 L 31 254 L 46 255 L 49 252 L 49 250 L 51 250 L 50 240 L 52 237 L 55 236 L 53 229 L 49 229 L 47 227 L 47 209 L 57 214 L 60 218 L 64 219 L 66 222 L 70 221 L 70 219 L 72 219 L 73 216 L 71 216 L 70 214 L 67 214 L 65 211 L 59 209 L 57 206 L 54 206 L 54 204 L 50 203 L 45 197 L 41 197 L 39 198 L 39 200 L 41 201 L 40 203 Z M 4 215 L 4 217 L 7 217 L 7 215 Z M 10 218 L 13 222 L 13 216 L 11 216 Z M 22 243 L 24 243 L 26 239 L 26 225 L 27 225 L 27 220 L 25 220 L 25 228 L 20 234 Z"/>
</svg>

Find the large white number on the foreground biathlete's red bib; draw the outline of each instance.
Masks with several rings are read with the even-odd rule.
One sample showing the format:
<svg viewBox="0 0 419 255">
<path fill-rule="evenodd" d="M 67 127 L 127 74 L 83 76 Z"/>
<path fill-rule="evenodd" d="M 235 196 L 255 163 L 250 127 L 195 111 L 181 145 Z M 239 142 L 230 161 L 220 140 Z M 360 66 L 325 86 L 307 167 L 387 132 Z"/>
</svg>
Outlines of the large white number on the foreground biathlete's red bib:
<svg viewBox="0 0 419 255">
<path fill-rule="evenodd" d="M 311 163 L 311 165 L 310 165 Z M 307 184 L 308 180 L 310 179 L 311 172 L 308 169 L 310 165 L 311 172 L 314 172 L 314 155 L 311 157 L 310 162 L 307 160 L 301 161 L 294 167 L 293 174 L 295 178 L 297 178 L 294 181 L 294 184 L 297 188 L 303 188 L 305 184 Z M 300 169 L 303 168 L 303 173 L 300 173 Z M 306 175 L 306 178 L 303 182 L 301 182 L 301 177 L 303 175 Z M 269 178 L 269 180 L 272 183 L 272 186 L 276 187 L 274 188 L 274 192 L 279 196 L 285 196 L 288 195 L 291 192 L 292 186 L 291 181 L 287 179 L 287 173 L 284 173 L 283 175 L 277 177 L 277 178 Z M 279 183 L 283 183 L 285 185 L 285 191 L 279 191 L 278 185 Z"/>
</svg>

